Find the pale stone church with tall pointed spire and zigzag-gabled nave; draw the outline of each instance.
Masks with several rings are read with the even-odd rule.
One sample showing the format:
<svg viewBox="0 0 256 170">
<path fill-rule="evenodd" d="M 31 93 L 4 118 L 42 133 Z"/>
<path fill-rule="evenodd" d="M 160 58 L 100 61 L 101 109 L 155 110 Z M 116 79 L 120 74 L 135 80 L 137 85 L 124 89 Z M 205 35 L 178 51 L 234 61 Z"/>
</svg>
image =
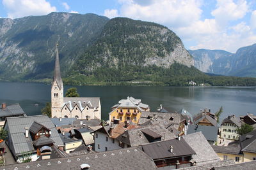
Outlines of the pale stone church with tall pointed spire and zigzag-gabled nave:
<svg viewBox="0 0 256 170">
<path fill-rule="evenodd" d="M 64 97 L 58 44 L 51 87 L 52 118 L 101 119 L 100 97 Z"/>
</svg>

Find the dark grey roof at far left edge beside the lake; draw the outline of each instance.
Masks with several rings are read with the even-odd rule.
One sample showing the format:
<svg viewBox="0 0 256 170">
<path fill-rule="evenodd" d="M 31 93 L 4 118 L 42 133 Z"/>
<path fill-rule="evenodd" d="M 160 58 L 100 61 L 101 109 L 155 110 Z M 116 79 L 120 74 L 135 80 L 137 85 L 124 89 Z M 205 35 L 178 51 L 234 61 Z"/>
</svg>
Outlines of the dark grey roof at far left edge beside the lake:
<svg viewBox="0 0 256 170">
<path fill-rule="evenodd" d="M 0 108 L 0 117 L 10 117 L 15 115 L 25 115 L 20 104 L 9 104 L 6 108 Z"/>
</svg>

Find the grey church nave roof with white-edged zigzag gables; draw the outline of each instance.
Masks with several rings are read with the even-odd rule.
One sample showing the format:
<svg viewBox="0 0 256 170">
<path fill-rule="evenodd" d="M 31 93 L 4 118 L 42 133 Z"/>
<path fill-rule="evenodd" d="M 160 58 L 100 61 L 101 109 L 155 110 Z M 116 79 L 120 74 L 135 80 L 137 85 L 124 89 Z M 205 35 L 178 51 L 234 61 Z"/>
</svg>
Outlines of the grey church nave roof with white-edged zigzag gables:
<svg viewBox="0 0 256 170">
<path fill-rule="evenodd" d="M 69 110 L 73 110 L 75 106 L 80 110 L 84 110 L 85 106 L 99 108 L 100 97 L 64 97 L 64 103 Z"/>
</svg>

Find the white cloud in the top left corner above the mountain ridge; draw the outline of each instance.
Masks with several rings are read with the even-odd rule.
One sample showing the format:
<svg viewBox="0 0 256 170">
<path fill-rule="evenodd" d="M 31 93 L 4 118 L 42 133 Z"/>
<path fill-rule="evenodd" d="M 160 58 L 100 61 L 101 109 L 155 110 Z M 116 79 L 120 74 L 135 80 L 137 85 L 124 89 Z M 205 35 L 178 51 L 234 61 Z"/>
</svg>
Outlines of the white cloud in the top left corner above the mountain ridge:
<svg viewBox="0 0 256 170">
<path fill-rule="evenodd" d="M 19 18 L 29 15 L 47 15 L 56 11 L 55 6 L 45 0 L 3 0 L 8 18 Z"/>
</svg>

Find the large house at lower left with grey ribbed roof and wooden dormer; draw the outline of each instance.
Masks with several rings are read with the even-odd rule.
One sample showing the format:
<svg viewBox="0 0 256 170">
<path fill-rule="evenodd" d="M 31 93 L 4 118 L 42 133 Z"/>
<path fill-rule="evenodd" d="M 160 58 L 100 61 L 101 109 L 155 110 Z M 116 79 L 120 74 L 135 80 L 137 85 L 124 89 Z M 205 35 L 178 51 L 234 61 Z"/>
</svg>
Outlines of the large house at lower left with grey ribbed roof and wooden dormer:
<svg viewBox="0 0 256 170">
<path fill-rule="evenodd" d="M 17 162 L 24 153 L 31 154 L 32 161 L 40 155 L 51 155 L 52 147 L 63 150 L 64 144 L 54 124 L 47 115 L 8 117 L 4 124 L 8 131 L 6 145 Z"/>
</svg>

